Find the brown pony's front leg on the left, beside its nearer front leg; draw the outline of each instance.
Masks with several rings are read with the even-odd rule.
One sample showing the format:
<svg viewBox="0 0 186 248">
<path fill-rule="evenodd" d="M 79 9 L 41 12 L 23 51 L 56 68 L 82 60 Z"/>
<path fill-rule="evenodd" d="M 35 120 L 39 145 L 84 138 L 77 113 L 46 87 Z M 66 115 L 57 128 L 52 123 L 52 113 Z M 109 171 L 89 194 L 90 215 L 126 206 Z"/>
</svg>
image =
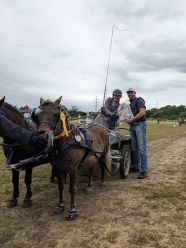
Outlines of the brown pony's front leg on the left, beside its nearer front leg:
<svg viewBox="0 0 186 248">
<path fill-rule="evenodd" d="M 65 173 L 57 173 L 57 182 L 58 182 L 58 190 L 59 190 L 59 203 L 54 209 L 55 214 L 62 214 L 65 210 L 64 206 L 64 181 L 65 181 Z"/>
</svg>

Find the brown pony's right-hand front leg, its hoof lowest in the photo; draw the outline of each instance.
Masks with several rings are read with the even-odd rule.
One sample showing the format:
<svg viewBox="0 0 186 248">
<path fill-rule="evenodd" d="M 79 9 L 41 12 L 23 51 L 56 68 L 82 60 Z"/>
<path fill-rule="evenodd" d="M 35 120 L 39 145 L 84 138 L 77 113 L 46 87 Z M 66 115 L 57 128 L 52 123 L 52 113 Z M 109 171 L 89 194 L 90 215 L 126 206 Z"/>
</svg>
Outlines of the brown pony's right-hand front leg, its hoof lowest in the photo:
<svg viewBox="0 0 186 248">
<path fill-rule="evenodd" d="M 76 194 L 77 170 L 72 171 L 69 177 L 70 177 L 69 192 L 71 195 L 71 202 L 70 202 L 70 209 L 68 211 L 66 219 L 74 220 L 76 218 L 75 194 Z"/>
</svg>

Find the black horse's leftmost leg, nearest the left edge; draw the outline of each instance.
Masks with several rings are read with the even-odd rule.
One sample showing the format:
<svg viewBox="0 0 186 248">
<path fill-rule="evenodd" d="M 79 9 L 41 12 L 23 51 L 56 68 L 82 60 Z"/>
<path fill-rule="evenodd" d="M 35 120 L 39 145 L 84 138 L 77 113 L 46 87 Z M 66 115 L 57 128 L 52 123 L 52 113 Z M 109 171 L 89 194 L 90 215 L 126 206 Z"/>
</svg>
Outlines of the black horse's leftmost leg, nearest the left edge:
<svg viewBox="0 0 186 248">
<path fill-rule="evenodd" d="M 19 171 L 12 170 L 13 195 L 9 200 L 7 207 L 12 208 L 17 206 L 17 198 L 19 197 Z"/>
</svg>

